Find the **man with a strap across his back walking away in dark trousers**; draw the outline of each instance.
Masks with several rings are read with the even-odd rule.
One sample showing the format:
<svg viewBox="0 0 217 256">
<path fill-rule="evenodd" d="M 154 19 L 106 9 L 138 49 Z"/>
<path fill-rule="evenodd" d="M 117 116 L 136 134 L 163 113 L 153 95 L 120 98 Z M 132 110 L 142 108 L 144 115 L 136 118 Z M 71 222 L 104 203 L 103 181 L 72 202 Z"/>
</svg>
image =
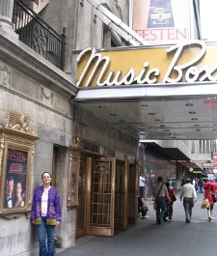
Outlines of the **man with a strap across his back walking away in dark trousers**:
<svg viewBox="0 0 217 256">
<path fill-rule="evenodd" d="M 153 186 L 152 195 L 156 203 L 156 223 L 161 224 L 167 210 L 166 199 L 170 201 L 167 186 L 163 183 L 161 176 L 157 178 L 157 183 Z"/>
</svg>

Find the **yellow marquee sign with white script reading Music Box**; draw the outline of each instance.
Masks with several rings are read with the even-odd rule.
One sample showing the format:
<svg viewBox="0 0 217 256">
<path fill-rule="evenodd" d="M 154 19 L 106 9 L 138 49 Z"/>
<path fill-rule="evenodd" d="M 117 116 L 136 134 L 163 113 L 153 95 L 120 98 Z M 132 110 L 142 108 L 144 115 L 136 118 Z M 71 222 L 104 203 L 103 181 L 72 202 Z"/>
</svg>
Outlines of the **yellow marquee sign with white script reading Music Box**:
<svg viewBox="0 0 217 256">
<path fill-rule="evenodd" d="M 217 80 L 217 45 L 201 41 L 170 47 L 83 50 L 78 58 L 78 87 L 176 84 Z"/>
</svg>

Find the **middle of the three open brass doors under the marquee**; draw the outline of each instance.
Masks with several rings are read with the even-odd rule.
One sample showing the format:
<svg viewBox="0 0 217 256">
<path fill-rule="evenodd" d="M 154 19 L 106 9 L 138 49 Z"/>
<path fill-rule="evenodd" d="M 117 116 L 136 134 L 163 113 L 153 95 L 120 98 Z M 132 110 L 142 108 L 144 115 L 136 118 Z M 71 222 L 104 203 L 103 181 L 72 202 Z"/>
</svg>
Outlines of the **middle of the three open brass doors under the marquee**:
<svg viewBox="0 0 217 256">
<path fill-rule="evenodd" d="M 127 227 L 127 162 L 116 163 L 115 189 L 115 229 L 125 230 Z"/>
</svg>

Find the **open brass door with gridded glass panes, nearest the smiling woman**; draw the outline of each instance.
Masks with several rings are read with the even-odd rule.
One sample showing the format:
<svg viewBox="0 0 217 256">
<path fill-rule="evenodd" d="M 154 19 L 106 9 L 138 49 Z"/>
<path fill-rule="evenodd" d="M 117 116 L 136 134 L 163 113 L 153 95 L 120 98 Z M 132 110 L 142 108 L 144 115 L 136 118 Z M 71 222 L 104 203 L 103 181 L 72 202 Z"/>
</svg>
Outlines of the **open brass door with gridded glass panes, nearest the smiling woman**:
<svg viewBox="0 0 217 256">
<path fill-rule="evenodd" d="M 114 235 L 116 159 L 87 158 L 87 235 Z"/>
</svg>

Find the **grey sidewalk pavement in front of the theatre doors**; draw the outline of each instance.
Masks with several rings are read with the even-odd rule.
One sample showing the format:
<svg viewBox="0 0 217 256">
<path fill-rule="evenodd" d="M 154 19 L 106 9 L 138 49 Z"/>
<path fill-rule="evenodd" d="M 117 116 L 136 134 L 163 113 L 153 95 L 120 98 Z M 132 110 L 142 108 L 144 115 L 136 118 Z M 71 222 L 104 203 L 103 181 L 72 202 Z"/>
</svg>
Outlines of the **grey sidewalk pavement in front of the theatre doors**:
<svg viewBox="0 0 217 256">
<path fill-rule="evenodd" d="M 57 253 L 57 256 L 216 256 L 217 209 L 214 207 L 211 222 L 206 210 L 201 209 L 203 194 L 193 209 L 191 223 L 185 223 L 182 202 L 178 195 L 174 204 L 172 221 L 157 225 L 153 202 L 149 205 L 149 218 L 138 219 L 137 226 L 116 232 L 115 236 L 87 236 L 76 241 L 75 246 Z"/>
</svg>

